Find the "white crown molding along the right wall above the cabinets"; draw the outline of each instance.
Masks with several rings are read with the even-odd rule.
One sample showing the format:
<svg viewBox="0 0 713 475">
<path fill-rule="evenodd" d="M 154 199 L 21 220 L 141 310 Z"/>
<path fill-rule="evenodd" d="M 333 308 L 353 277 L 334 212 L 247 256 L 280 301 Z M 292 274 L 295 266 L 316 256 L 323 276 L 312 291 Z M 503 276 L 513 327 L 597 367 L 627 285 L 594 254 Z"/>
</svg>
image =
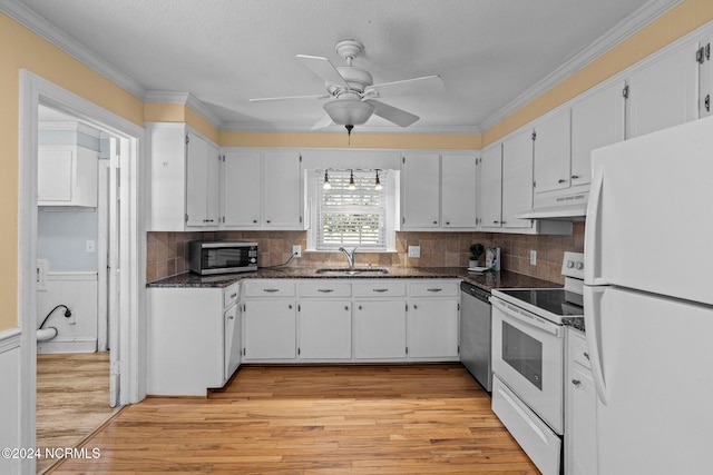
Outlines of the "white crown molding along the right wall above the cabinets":
<svg viewBox="0 0 713 475">
<path fill-rule="evenodd" d="M 567 79 L 574 72 L 588 65 L 594 59 L 676 7 L 683 0 L 652 0 L 638 10 L 626 17 L 618 24 L 609 29 L 604 36 L 595 40 L 592 44 L 575 52 L 564 65 L 547 75 L 539 82 L 527 89 L 525 92 L 508 102 L 504 108 L 488 117 L 479 123 L 480 130 L 488 130 L 496 123 L 506 119 L 517 110 L 531 102 L 537 97 L 547 92 L 559 82 Z"/>
</svg>

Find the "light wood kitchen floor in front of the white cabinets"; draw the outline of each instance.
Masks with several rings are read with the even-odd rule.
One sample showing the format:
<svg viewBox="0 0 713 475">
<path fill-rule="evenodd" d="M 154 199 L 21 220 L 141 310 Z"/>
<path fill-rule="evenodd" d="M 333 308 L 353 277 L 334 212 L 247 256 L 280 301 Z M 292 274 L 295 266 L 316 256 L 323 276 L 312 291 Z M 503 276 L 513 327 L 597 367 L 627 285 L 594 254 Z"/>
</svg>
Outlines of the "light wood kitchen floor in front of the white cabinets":
<svg viewBox="0 0 713 475">
<path fill-rule="evenodd" d="M 538 474 L 460 365 L 243 367 L 209 398 L 149 397 L 55 474 Z"/>
</svg>

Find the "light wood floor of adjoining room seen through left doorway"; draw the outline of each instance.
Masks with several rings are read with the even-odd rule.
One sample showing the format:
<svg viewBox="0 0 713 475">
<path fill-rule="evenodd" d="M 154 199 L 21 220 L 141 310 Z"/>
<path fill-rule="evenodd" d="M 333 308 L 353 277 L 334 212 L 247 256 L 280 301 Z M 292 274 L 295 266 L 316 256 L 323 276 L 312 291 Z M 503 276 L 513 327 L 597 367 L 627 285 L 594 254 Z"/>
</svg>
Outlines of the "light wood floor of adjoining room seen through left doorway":
<svg viewBox="0 0 713 475">
<path fill-rule="evenodd" d="M 118 409 L 109 407 L 109 354 L 37 355 L 37 447 L 75 447 Z M 43 473 L 57 459 L 37 462 Z"/>
</svg>

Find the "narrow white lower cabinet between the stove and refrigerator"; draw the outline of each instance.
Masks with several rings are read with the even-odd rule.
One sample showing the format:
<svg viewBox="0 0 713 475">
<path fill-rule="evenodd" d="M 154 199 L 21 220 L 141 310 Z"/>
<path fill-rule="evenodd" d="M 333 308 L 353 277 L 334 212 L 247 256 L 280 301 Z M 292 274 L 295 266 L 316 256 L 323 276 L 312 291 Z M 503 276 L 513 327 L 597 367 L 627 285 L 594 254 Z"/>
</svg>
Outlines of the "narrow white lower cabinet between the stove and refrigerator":
<svg viewBox="0 0 713 475">
<path fill-rule="evenodd" d="M 565 473 L 597 473 L 596 389 L 589 366 L 587 340 L 579 330 L 567 329 L 565 380 Z"/>
</svg>

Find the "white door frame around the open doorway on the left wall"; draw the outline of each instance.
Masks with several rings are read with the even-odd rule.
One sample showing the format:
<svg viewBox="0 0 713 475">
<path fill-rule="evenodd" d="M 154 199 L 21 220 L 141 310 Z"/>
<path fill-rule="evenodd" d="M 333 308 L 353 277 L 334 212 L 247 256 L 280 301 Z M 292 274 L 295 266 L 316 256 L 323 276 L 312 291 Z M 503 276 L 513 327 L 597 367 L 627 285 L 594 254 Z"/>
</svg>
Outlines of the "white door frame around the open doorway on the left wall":
<svg viewBox="0 0 713 475">
<path fill-rule="evenodd" d="M 121 140 L 119 188 L 120 269 L 118 367 L 120 405 L 146 397 L 146 218 L 144 128 L 28 70 L 20 70 L 18 190 L 18 326 L 20 336 L 20 434 L 22 447 L 36 446 L 37 376 L 37 144 L 38 107 L 47 105 L 98 126 Z M 108 403 L 107 403 L 108 404 Z M 35 474 L 25 459 L 21 473 Z"/>
</svg>

